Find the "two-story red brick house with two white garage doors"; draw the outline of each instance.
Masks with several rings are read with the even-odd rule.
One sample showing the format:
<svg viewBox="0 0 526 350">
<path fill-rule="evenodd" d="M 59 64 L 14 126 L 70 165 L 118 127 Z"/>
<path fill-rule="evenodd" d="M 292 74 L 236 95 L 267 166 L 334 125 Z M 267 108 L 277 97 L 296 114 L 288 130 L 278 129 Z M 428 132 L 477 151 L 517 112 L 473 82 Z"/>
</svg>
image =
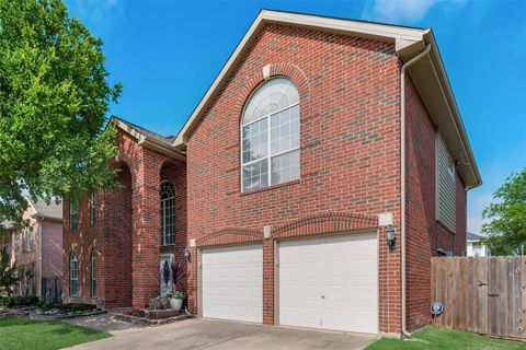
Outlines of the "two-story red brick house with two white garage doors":
<svg viewBox="0 0 526 350">
<path fill-rule="evenodd" d="M 198 316 L 400 334 L 431 322 L 431 257 L 465 254 L 481 178 L 431 30 L 262 11 L 178 137 L 112 122 L 125 187 L 94 226 L 65 206 L 72 299 L 95 248 L 96 298 L 144 307 L 170 252 Z"/>
</svg>

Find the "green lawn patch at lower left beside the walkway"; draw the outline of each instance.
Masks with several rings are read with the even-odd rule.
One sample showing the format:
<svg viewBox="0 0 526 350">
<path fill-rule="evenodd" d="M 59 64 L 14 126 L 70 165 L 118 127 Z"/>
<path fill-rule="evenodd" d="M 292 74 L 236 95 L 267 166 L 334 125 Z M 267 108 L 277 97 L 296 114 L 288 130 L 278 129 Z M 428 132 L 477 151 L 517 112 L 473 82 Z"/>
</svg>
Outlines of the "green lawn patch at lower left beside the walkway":
<svg viewBox="0 0 526 350">
<path fill-rule="evenodd" d="M 34 322 L 26 317 L 0 318 L 1 350 L 55 350 L 110 337 L 106 332 L 61 322 Z"/>
</svg>

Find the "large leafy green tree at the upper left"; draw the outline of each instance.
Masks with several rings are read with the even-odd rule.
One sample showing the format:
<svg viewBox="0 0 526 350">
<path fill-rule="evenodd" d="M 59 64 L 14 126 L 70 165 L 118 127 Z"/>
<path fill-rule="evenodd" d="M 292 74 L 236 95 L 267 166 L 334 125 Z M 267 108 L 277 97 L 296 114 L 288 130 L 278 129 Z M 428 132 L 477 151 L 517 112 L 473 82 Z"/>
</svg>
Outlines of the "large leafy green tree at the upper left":
<svg viewBox="0 0 526 350">
<path fill-rule="evenodd" d="M 23 195 L 77 200 L 114 184 L 115 130 L 102 40 L 60 0 L 0 0 L 0 222 Z"/>
</svg>

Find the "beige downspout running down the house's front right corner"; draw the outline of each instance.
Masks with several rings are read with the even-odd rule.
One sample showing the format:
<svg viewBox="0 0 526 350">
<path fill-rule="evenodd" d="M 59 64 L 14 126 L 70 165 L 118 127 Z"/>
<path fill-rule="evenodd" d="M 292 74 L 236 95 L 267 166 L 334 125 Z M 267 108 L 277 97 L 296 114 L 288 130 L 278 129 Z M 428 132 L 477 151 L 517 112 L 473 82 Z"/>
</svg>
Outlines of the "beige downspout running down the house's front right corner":
<svg viewBox="0 0 526 350">
<path fill-rule="evenodd" d="M 411 332 L 409 332 L 407 328 L 405 315 L 405 70 L 426 56 L 430 50 L 431 44 L 427 44 L 422 52 L 403 63 L 400 71 L 400 241 L 402 255 L 402 334 L 409 338 L 411 338 Z"/>
</svg>

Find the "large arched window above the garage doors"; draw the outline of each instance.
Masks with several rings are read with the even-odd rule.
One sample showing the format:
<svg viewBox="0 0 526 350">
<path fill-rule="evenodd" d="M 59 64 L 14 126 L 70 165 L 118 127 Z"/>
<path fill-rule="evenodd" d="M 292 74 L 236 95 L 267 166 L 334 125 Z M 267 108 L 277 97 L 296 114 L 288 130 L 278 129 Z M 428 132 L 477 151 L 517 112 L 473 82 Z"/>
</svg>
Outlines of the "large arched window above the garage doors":
<svg viewBox="0 0 526 350">
<path fill-rule="evenodd" d="M 299 93 L 276 78 L 250 97 L 241 119 L 242 190 L 299 179 Z"/>
</svg>

